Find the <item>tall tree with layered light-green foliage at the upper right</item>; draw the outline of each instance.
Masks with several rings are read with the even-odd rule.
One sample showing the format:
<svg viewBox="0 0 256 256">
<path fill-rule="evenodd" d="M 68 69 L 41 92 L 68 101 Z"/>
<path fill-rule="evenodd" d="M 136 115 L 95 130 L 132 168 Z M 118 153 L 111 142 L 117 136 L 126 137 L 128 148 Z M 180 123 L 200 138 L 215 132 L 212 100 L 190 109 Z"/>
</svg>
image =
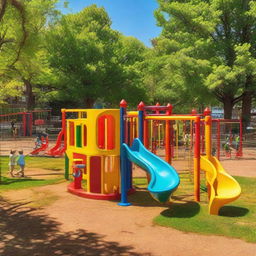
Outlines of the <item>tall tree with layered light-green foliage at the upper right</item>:
<svg viewBox="0 0 256 256">
<path fill-rule="evenodd" d="M 169 56 L 172 73 L 181 75 L 171 88 L 180 81 L 177 90 L 192 92 L 193 99 L 196 92 L 202 102 L 209 99 L 209 89 L 224 104 L 225 118 L 231 118 L 241 100 L 249 111 L 248 99 L 255 91 L 255 1 L 158 2 L 155 16 L 163 31 L 155 49 L 159 56 Z"/>
</svg>

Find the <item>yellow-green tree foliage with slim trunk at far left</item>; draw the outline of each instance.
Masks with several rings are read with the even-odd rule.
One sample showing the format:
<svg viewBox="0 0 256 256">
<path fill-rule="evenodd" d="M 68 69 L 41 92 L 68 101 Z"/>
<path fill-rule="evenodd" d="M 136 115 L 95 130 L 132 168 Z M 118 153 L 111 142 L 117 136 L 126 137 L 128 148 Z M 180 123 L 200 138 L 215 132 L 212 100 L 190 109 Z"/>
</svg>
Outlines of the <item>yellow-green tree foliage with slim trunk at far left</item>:
<svg viewBox="0 0 256 256">
<path fill-rule="evenodd" d="M 33 89 L 40 83 L 43 72 L 47 71 L 43 48 L 44 30 L 50 18 L 58 14 L 55 10 L 56 2 L 2 1 L 1 10 L 4 10 L 4 14 L 0 20 L 0 100 L 21 96 L 25 90 L 27 108 L 34 107 Z"/>
</svg>

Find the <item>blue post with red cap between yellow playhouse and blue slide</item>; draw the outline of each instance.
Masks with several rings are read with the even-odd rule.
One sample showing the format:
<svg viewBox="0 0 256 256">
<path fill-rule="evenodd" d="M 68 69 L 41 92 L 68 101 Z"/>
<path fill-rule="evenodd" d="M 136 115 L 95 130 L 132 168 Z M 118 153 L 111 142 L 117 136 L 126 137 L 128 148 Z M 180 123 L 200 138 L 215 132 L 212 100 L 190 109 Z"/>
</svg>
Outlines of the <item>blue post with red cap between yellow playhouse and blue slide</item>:
<svg viewBox="0 0 256 256">
<path fill-rule="evenodd" d="M 121 202 L 118 205 L 129 206 L 131 205 L 127 200 L 127 191 L 128 191 L 128 181 L 127 181 L 127 172 L 128 172 L 128 159 L 126 152 L 123 147 L 125 143 L 125 114 L 126 114 L 127 103 L 125 100 L 120 102 L 120 168 L 121 168 Z"/>
</svg>

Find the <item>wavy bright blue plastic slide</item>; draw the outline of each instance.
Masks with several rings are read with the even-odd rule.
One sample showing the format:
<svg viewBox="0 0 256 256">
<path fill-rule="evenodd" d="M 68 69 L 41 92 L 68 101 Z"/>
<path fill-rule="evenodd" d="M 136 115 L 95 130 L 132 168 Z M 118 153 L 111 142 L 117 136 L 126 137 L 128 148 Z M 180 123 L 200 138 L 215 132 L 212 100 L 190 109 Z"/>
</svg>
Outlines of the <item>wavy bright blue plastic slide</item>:
<svg viewBox="0 0 256 256">
<path fill-rule="evenodd" d="M 164 160 L 148 151 L 139 139 L 133 141 L 130 148 L 122 145 L 128 159 L 143 168 L 151 176 L 148 190 L 159 202 L 167 202 L 180 184 L 176 170 Z"/>
</svg>

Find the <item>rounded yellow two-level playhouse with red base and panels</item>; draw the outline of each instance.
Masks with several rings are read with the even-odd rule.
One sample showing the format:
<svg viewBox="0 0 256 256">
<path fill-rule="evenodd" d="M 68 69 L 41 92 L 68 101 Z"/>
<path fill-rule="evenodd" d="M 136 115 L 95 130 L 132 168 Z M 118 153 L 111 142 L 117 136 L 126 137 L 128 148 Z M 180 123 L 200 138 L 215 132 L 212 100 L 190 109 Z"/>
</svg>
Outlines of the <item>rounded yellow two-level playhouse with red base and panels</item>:
<svg viewBox="0 0 256 256">
<path fill-rule="evenodd" d="M 68 190 L 87 198 L 118 199 L 119 110 L 62 110 L 63 115 L 68 112 L 78 114 L 77 119 L 67 120 L 66 177 L 69 173 L 75 177 Z"/>
</svg>

